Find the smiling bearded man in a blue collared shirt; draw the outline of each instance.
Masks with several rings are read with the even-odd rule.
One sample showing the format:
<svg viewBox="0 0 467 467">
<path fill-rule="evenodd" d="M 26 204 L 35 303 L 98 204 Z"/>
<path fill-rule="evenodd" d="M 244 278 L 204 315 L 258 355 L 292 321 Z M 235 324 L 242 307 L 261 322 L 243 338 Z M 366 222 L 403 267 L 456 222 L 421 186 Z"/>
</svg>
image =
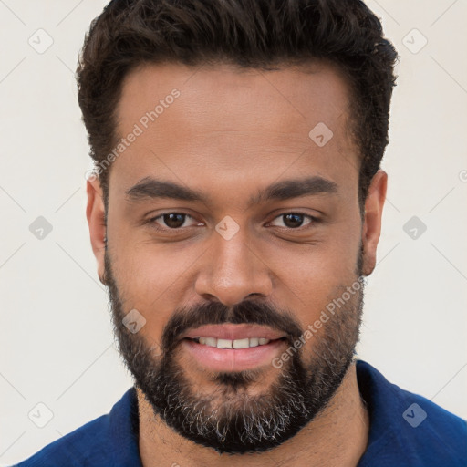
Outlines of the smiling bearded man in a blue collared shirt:
<svg viewBox="0 0 467 467">
<path fill-rule="evenodd" d="M 135 379 L 19 465 L 461 466 L 464 420 L 355 358 L 396 52 L 358 0 L 114 0 L 78 99 Z"/>
</svg>

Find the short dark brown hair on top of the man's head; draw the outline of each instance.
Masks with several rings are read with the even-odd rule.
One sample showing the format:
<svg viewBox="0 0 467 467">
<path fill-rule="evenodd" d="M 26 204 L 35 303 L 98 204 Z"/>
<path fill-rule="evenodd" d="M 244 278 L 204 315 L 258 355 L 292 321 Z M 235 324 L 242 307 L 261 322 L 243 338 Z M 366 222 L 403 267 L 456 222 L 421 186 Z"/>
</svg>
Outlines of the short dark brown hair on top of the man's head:
<svg viewBox="0 0 467 467">
<path fill-rule="evenodd" d="M 351 89 L 349 116 L 360 157 L 360 208 L 389 142 L 389 105 L 398 55 L 360 0 L 112 0 L 78 55 L 78 103 L 98 166 L 118 143 L 122 80 L 145 63 L 229 62 L 272 69 L 325 60 Z M 99 179 L 107 204 L 109 171 Z"/>
</svg>

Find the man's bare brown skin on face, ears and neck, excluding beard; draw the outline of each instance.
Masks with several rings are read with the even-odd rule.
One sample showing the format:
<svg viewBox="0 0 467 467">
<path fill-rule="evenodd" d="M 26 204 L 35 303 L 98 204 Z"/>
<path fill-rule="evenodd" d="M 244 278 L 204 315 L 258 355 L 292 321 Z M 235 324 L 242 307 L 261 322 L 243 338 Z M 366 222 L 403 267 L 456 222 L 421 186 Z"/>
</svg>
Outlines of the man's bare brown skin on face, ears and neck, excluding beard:
<svg viewBox="0 0 467 467">
<path fill-rule="evenodd" d="M 376 264 L 387 174 L 374 176 L 362 223 L 358 148 L 349 137 L 345 78 L 319 63 L 267 72 L 228 65 L 139 67 L 123 83 L 119 136 L 127 135 L 173 88 L 181 96 L 111 166 L 107 227 L 99 179 L 88 181 L 87 216 L 99 277 L 107 233 L 121 296 L 129 311 L 137 308 L 146 318 L 140 333 L 155 342 L 174 309 L 206 300 L 233 306 L 251 294 L 293 310 L 306 328 L 337 296 L 338 285 L 355 282 L 360 242 L 363 275 L 370 275 Z M 318 122 L 333 131 L 324 147 L 308 137 Z M 249 203 L 270 183 L 313 175 L 337 183 L 337 193 Z M 126 200 L 125 192 L 147 176 L 200 191 L 209 202 Z M 287 228 L 279 214 L 294 212 L 322 222 L 308 224 L 305 218 L 299 231 Z M 143 223 L 161 213 L 188 213 L 192 219 L 182 233 L 168 232 L 161 218 Z M 214 230 L 226 215 L 239 226 L 228 241 Z M 313 345 L 313 339 L 306 342 L 305 356 L 311 356 Z M 200 391 L 212 389 L 190 355 L 181 355 L 180 361 Z M 251 393 L 267 391 L 277 371 L 263 368 Z M 138 398 L 145 467 L 219 465 L 219 453 L 161 423 L 140 389 Z M 295 437 L 273 451 L 223 454 L 222 462 L 355 466 L 366 449 L 368 428 L 353 364 L 326 409 Z"/>
</svg>

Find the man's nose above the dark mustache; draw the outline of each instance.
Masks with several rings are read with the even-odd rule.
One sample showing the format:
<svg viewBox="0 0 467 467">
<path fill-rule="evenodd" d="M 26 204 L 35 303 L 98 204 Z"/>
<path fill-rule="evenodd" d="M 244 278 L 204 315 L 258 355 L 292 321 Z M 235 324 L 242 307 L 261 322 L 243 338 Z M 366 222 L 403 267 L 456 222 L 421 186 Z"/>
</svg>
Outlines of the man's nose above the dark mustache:
<svg viewBox="0 0 467 467">
<path fill-rule="evenodd" d="M 213 233 L 213 244 L 204 258 L 195 282 L 195 291 L 205 299 L 217 299 L 234 306 L 250 296 L 270 296 L 272 272 L 261 254 L 248 243 L 246 229 L 230 240 Z"/>
</svg>

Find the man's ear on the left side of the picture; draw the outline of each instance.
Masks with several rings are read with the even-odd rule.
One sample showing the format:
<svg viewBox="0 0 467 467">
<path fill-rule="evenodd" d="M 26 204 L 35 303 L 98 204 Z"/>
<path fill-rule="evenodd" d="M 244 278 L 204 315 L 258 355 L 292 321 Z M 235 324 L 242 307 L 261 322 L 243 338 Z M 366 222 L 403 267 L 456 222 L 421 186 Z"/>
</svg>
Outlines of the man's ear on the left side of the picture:
<svg viewBox="0 0 467 467">
<path fill-rule="evenodd" d="M 104 277 L 104 254 L 105 254 L 105 205 L 99 178 L 91 177 L 86 182 L 86 192 L 88 193 L 88 205 L 86 208 L 86 217 L 88 218 L 89 235 L 91 239 L 92 251 L 98 261 L 99 280 L 103 285 Z"/>
</svg>

